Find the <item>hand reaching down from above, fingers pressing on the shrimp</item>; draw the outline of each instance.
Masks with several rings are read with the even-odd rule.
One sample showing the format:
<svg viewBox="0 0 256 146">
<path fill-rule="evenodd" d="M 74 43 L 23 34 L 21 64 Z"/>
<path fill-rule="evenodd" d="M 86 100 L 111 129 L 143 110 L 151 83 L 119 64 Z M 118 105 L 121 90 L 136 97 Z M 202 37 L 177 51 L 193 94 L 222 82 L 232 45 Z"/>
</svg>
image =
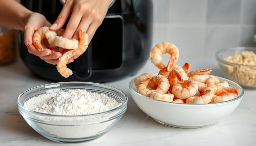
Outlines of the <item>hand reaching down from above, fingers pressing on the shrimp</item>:
<svg viewBox="0 0 256 146">
<path fill-rule="evenodd" d="M 90 42 L 95 31 L 101 25 L 110 2 L 111 0 L 67 0 L 50 29 L 60 29 L 70 16 L 62 37 L 79 40 L 79 29 L 83 28 L 88 34 L 88 42 Z"/>
</svg>

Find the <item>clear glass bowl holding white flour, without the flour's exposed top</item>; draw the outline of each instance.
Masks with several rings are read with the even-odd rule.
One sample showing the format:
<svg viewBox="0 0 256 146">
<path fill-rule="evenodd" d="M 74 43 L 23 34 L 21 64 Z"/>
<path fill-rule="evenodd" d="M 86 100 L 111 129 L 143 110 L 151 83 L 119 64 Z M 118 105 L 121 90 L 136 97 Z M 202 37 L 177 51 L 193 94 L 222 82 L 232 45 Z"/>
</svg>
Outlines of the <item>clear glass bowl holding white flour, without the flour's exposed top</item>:
<svg viewBox="0 0 256 146">
<path fill-rule="evenodd" d="M 23 106 L 30 98 L 69 89 L 86 89 L 88 92 L 104 93 L 122 103 L 103 113 L 82 116 L 59 116 L 38 113 Z M 35 131 L 57 142 L 83 142 L 101 137 L 121 119 L 127 108 L 127 96 L 114 87 L 90 82 L 62 82 L 37 86 L 18 97 L 19 113 Z"/>
</svg>

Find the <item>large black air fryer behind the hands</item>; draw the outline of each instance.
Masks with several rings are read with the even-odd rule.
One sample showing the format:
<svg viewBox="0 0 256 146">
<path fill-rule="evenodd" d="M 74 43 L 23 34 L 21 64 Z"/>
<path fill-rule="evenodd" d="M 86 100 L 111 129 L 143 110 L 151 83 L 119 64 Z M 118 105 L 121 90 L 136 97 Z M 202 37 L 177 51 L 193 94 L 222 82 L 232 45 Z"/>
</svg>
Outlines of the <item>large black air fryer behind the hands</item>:
<svg viewBox="0 0 256 146">
<path fill-rule="evenodd" d="M 54 23 L 63 4 L 61 0 L 21 0 L 20 3 L 43 14 Z M 152 42 L 151 0 L 116 0 L 108 9 L 88 49 L 67 65 L 73 71 L 68 78 L 39 57 L 28 53 L 20 32 L 20 55 L 36 75 L 52 81 L 108 82 L 135 74 L 146 63 Z M 66 25 L 65 25 L 66 27 Z M 65 29 L 64 27 L 64 29 Z"/>
</svg>

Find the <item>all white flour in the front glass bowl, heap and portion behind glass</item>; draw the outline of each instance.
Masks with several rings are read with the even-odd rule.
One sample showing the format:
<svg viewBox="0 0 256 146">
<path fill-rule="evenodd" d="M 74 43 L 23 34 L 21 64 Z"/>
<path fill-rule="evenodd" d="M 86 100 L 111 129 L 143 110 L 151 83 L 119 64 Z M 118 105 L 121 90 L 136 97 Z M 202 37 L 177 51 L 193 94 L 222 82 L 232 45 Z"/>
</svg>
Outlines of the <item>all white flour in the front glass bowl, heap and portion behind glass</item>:
<svg viewBox="0 0 256 146">
<path fill-rule="evenodd" d="M 37 125 L 34 126 L 37 130 L 45 131 L 45 135 L 41 133 L 43 136 L 90 139 L 111 129 L 121 118 L 113 117 L 122 109 L 102 115 L 88 114 L 108 111 L 121 104 L 105 94 L 76 89 L 42 94 L 27 100 L 24 106 L 40 113 L 53 115 L 87 115 L 79 117 L 36 115 L 36 119 L 44 122 L 35 121 L 33 125 Z"/>
</svg>

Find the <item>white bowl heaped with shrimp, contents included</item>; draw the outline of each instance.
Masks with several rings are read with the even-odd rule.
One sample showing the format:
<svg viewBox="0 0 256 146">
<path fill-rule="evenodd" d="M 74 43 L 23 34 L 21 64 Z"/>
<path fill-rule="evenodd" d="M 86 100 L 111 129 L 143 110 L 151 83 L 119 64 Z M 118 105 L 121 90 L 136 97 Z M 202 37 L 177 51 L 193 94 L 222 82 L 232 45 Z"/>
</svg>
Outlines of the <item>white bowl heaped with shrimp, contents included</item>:
<svg viewBox="0 0 256 146">
<path fill-rule="evenodd" d="M 162 54 L 171 55 L 167 66 Z M 243 98 L 243 88 L 226 78 L 209 75 L 211 69 L 189 71 L 190 64 L 175 65 L 178 48 L 157 44 L 150 59 L 159 73 L 144 73 L 129 83 L 137 106 L 158 123 L 178 128 L 199 128 L 231 114 Z"/>
</svg>

